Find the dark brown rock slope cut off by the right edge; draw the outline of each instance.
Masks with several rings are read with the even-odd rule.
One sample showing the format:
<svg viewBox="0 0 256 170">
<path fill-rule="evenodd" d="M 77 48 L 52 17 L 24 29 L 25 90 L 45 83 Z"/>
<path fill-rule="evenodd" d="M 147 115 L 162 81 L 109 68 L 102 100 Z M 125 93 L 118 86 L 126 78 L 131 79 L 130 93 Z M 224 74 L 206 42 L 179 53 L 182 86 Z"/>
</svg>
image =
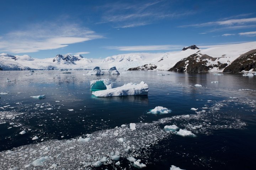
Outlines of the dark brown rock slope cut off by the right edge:
<svg viewBox="0 0 256 170">
<path fill-rule="evenodd" d="M 223 70 L 223 73 L 239 73 L 241 71 L 256 71 L 256 49 L 248 51 L 234 60 L 228 67 Z"/>
</svg>

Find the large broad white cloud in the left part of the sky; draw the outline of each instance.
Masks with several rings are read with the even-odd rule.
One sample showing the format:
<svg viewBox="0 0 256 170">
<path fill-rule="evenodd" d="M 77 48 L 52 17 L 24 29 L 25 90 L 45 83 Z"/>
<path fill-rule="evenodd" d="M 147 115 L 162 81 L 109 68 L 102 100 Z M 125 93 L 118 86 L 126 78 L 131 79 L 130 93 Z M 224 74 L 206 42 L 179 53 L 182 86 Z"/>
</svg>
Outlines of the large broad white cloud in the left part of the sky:
<svg viewBox="0 0 256 170">
<path fill-rule="evenodd" d="M 103 38 L 78 24 L 39 23 L 1 35 L 0 50 L 12 53 L 37 52 Z"/>
</svg>

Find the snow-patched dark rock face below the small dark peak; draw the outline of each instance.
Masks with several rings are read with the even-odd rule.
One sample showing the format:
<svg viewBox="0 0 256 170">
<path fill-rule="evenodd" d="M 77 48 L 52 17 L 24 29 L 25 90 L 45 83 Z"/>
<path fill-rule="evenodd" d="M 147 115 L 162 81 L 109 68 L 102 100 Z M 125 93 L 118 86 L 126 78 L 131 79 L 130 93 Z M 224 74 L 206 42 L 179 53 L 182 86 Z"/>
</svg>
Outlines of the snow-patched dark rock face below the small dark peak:
<svg viewBox="0 0 256 170">
<path fill-rule="evenodd" d="M 214 67 L 218 70 L 225 68 L 228 64 L 218 61 L 219 58 L 213 58 L 201 53 L 194 53 L 187 58 L 178 61 L 174 67 L 168 71 L 174 72 L 208 72 Z"/>
</svg>

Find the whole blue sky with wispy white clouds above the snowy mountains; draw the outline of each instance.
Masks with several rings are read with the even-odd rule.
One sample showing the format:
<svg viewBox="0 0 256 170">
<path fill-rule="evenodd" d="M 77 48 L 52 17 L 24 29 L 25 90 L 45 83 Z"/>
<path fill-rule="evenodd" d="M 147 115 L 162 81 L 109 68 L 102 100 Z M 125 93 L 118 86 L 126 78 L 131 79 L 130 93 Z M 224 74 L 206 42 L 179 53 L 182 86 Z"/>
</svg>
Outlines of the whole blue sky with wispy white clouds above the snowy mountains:
<svg viewBox="0 0 256 170">
<path fill-rule="evenodd" d="M 0 53 L 105 58 L 256 40 L 255 0 L 1 0 Z"/>
</svg>

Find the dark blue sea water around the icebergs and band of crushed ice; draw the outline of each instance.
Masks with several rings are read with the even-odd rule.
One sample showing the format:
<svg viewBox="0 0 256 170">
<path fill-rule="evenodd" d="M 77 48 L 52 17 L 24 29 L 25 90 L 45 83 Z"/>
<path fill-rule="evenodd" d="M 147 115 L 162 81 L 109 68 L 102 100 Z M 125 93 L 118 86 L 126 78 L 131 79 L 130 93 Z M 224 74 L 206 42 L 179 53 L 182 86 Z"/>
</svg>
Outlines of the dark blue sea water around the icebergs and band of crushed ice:
<svg viewBox="0 0 256 170">
<path fill-rule="evenodd" d="M 255 76 L 166 71 L 101 76 L 83 74 L 86 71 L 71 70 L 71 74 L 58 71 L 35 71 L 33 74 L 28 71 L 0 72 L 0 92 L 7 93 L 0 95 L 0 151 L 49 140 L 76 138 L 122 124 L 152 123 L 166 117 L 195 115 L 197 113 L 191 108 L 198 108 L 198 112 L 205 110 L 207 113 L 202 120 L 177 119 L 175 124 L 184 129 L 196 121 L 198 124 L 205 121 L 212 124 L 196 130 L 187 128 L 196 137 L 170 135 L 160 140 L 145 154 L 138 155 L 138 158 L 146 159 L 145 169 L 170 169 L 171 165 L 186 170 L 255 168 Z M 7 79 L 11 81 L 6 82 Z M 90 91 L 90 80 L 96 79 L 111 79 L 114 87 L 145 81 L 149 93 L 148 96 L 97 98 Z M 46 95 L 46 98 L 30 97 L 37 95 Z M 166 107 L 172 112 L 147 113 L 156 106 Z M 22 130 L 26 134 L 20 135 Z M 39 139 L 32 140 L 34 136 Z M 125 161 L 123 165 L 123 168 L 134 169 Z M 101 168 L 111 169 L 113 166 L 103 165 Z"/>
</svg>

